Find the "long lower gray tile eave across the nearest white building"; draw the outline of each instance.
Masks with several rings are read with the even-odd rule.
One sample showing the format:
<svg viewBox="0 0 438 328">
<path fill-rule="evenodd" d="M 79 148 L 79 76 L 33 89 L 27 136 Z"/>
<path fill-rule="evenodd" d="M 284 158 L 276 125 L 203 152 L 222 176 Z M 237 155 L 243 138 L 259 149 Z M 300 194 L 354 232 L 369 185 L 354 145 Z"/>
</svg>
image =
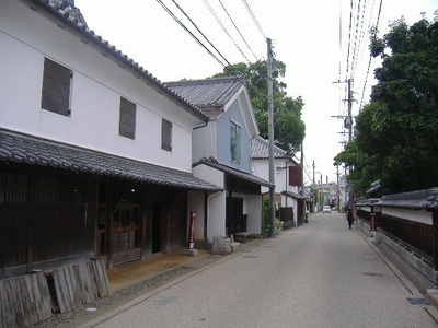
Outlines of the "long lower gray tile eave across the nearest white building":
<svg viewBox="0 0 438 328">
<path fill-rule="evenodd" d="M 189 190 L 221 190 L 191 173 L 0 129 L 0 162 L 25 163 Z"/>
</svg>

